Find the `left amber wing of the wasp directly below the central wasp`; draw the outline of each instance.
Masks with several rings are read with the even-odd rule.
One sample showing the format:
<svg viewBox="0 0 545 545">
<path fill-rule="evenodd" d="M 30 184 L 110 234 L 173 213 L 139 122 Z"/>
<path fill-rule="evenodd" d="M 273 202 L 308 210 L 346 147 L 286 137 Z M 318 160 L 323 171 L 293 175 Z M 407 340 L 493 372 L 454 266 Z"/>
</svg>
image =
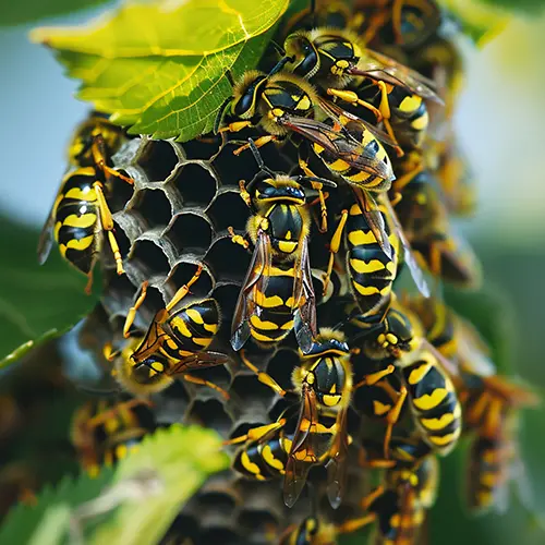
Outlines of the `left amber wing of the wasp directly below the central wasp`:
<svg viewBox="0 0 545 545">
<path fill-rule="evenodd" d="M 306 483 L 308 471 L 317 460 L 314 445 L 314 435 L 318 424 L 316 393 L 312 388 L 303 386 L 302 398 L 301 412 L 283 481 L 283 501 L 288 507 L 292 507 L 298 500 Z"/>
</svg>

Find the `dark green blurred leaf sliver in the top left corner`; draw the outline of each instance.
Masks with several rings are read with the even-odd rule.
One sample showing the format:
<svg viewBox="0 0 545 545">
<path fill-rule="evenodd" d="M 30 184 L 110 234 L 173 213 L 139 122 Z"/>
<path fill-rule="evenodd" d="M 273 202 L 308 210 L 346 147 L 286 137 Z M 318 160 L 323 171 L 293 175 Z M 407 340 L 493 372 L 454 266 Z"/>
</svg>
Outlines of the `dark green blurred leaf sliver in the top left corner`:
<svg viewBox="0 0 545 545">
<path fill-rule="evenodd" d="M 0 3 L 0 26 L 21 25 L 93 8 L 109 0 L 20 0 Z"/>
</svg>

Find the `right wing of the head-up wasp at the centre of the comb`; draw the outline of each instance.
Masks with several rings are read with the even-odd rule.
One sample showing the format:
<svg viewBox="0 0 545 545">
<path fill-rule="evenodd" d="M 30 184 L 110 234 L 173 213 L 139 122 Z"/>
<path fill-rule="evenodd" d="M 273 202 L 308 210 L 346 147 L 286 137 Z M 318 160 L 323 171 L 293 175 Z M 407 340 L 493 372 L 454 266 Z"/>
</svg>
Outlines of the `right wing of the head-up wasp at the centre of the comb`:
<svg viewBox="0 0 545 545">
<path fill-rule="evenodd" d="M 306 354 L 311 351 L 314 338 L 318 335 L 316 326 L 316 295 L 312 282 L 307 237 L 301 242 L 301 257 L 295 263 L 295 269 L 293 301 L 296 311 L 293 330 L 302 352 Z M 301 300 L 304 300 L 303 304 L 301 304 Z"/>
</svg>

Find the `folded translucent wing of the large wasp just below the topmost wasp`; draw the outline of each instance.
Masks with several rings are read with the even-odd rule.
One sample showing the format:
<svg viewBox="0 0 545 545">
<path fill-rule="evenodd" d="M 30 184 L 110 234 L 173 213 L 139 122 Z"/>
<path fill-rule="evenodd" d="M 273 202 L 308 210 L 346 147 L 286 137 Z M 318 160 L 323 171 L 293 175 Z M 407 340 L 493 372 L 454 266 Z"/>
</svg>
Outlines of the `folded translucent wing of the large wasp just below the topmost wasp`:
<svg viewBox="0 0 545 545">
<path fill-rule="evenodd" d="M 376 154 L 367 147 L 364 148 L 348 131 L 335 131 L 320 121 L 289 114 L 284 114 L 279 122 L 358 170 L 388 181 L 395 178 L 391 166 L 377 160 Z"/>
</svg>

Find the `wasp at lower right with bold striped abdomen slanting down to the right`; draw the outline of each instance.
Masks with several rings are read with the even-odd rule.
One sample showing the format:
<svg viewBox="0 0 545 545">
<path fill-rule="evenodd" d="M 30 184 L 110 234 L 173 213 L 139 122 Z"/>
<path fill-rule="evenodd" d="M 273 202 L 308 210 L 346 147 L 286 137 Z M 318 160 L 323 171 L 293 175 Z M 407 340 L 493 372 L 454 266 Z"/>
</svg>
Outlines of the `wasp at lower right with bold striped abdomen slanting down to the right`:
<svg viewBox="0 0 545 545">
<path fill-rule="evenodd" d="M 362 316 L 352 318 L 352 323 L 358 320 L 363 325 L 367 322 Z M 378 362 L 388 361 L 388 356 L 392 359 L 380 378 L 396 373 L 401 383 L 397 415 L 409 401 L 424 440 L 441 456 L 450 452 L 462 424 L 460 401 L 446 371 L 456 374 L 456 367 L 425 340 L 416 316 L 402 307 L 396 298 L 382 322 L 370 324 L 364 335 L 362 352 L 367 358 Z M 389 436 L 385 441 L 388 439 Z"/>
</svg>

